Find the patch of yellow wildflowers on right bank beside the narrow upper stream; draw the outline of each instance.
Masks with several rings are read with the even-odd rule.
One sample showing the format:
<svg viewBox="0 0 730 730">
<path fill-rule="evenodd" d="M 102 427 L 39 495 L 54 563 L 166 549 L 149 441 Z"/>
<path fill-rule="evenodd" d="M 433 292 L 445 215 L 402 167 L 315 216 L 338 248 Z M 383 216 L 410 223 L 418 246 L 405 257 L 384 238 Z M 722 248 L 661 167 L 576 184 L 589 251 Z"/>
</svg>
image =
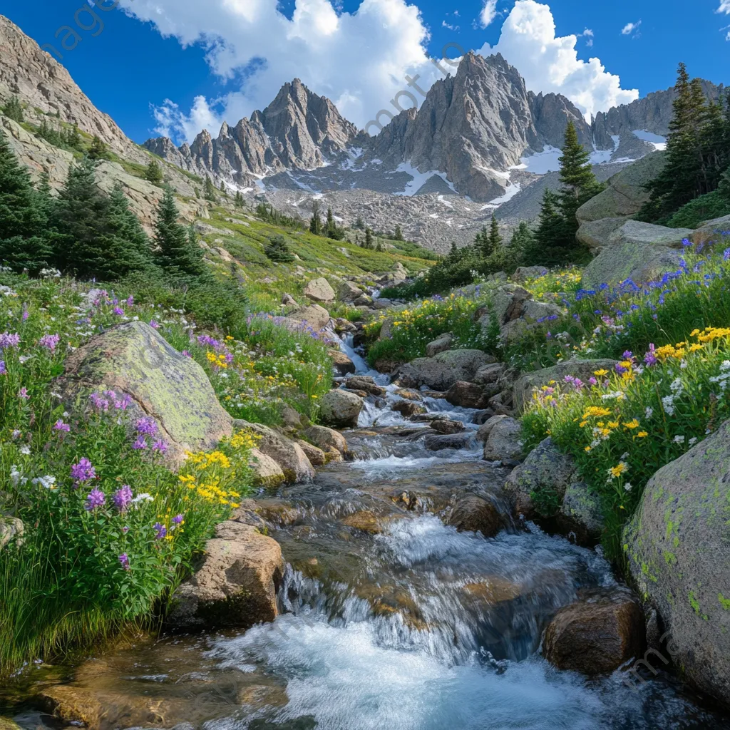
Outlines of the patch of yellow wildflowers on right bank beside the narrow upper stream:
<svg viewBox="0 0 730 730">
<path fill-rule="evenodd" d="M 436 295 L 420 304 L 395 312 L 391 316 L 391 337 L 369 347 L 368 360 L 374 364 L 380 358 L 410 361 L 426 354 L 426 345 L 439 334 L 453 334 L 453 349 L 469 348 L 494 352 L 497 350 L 499 328 L 485 331 L 480 324 L 480 312 L 488 298 L 488 289 L 477 286 L 470 296 L 453 293 L 446 299 Z M 385 315 L 365 325 L 366 336 L 377 338 L 385 323 Z"/>
</svg>

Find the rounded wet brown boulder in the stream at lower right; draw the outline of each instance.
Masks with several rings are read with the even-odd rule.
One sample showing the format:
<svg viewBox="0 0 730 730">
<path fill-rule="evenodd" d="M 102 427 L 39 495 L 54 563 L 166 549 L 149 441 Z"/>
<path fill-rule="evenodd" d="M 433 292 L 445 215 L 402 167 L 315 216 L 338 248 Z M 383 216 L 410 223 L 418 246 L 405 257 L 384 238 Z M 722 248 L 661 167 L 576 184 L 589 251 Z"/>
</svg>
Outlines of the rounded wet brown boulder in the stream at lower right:
<svg viewBox="0 0 730 730">
<path fill-rule="evenodd" d="M 642 656 L 644 613 L 626 588 L 585 591 L 561 608 L 545 629 L 542 653 L 558 669 L 600 675 Z"/>
</svg>

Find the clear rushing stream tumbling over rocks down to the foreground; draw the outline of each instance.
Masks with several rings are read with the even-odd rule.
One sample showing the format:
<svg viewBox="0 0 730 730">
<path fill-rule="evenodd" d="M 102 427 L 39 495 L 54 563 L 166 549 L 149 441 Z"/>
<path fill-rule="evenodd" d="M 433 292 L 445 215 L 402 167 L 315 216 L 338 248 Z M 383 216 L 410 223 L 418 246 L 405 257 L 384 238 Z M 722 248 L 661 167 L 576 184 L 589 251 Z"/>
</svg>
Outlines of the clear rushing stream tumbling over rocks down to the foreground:
<svg viewBox="0 0 730 730">
<path fill-rule="evenodd" d="M 75 685 L 104 704 L 108 728 L 730 728 L 664 674 L 590 680 L 550 666 L 539 653 L 546 623 L 581 588 L 615 585 L 610 566 L 600 551 L 515 526 L 500 498 L 507 471 L 485 463 L 474 441 L 426 451 L 419 424 L 390 410 L 399 396 L 388 378 L 345 350 L 387 389 L 385 404 L 369 403 L 348 434 L 355 461 L 262 495 L 288 561 L 280 617 L 245 632 L 142 641 L 86 664 Z M 476 428 L 474 412 L 424 403 Z M 439 518 L 464 491 L 503 510 L 496 537 Z M 43 718 L 19 719 L 31 730 Z"/>
</svg>

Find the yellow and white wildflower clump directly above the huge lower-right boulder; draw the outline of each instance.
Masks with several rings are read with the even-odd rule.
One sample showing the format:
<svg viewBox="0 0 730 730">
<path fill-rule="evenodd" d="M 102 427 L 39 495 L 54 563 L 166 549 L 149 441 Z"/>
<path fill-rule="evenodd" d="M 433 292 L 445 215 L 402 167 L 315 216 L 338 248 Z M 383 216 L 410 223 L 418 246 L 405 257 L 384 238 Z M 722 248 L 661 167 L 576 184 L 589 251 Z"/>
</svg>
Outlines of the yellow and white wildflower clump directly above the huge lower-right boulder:
<svg viewBox="0 0 730 730">
<path fill-rule="evenodd" d="M 621 358 L 614 372 L 597 370 L 587 383 L 567 376 L 543 386 L 523 416 L 530 446 L 550 435 L 575 457 L 602 501 L 614 557 L 654 472 L 730 418 L 730 328 L 695 329 Z"/>
</svg>

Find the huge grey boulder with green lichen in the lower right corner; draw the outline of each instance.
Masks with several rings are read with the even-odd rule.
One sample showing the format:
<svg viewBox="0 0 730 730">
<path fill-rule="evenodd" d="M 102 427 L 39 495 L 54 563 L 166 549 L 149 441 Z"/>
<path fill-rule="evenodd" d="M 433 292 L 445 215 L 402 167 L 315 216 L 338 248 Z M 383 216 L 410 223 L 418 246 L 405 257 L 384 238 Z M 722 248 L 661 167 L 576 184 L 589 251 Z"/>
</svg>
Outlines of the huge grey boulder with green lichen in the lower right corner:
<svg viewBox="0 0 730 730">
<path fill-rule="evenodd" d="M 624 534 L 631 575 L 656 605 L 667 650 L 730 704 L 730 421 L 649 480 Z"/>
</svg>

